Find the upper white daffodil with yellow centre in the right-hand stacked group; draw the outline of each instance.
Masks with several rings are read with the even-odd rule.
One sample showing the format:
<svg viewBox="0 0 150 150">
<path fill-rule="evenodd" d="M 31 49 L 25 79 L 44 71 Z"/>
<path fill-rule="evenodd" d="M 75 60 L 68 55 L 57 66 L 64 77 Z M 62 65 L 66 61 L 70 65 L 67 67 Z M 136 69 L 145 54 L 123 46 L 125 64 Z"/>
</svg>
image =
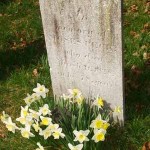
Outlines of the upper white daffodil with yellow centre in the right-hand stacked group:
<svg viewBox="0 0 150 150">
<path fill-rule="evenodd" d="M 99 114 L 95 120 L 92 121 L 90 127 L 94 129 L 100 129 L 103 126 L 103 120 Z"/>
</svg>

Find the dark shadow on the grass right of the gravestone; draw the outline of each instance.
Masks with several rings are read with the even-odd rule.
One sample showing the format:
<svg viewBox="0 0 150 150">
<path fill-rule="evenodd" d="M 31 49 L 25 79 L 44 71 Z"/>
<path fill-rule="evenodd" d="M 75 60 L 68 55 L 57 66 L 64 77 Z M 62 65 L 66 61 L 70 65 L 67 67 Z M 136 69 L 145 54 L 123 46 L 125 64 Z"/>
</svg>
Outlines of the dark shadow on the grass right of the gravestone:
<svg viewBox="0 0 150 150">
<path fill-rule="evenodd" d="M 150 66 L 126 69 L 125 71 L 126 119 L 139 116 L 146 117 L 150 113 Z"/>
</svg>

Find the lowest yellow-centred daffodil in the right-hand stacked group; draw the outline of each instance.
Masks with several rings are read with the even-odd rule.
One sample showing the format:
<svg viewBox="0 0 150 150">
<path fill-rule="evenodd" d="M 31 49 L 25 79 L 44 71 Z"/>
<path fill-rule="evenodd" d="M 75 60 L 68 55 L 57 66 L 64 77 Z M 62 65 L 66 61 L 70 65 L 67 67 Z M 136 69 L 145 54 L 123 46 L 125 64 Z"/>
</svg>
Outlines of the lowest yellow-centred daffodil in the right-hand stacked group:
<svg viewBox="0 0 150 150">
<path fill-rule="evenodd" d="M 103 129 L 95 129 L 94 130 L 94 136 L 92 137 L 92 140 L 95 141 L 95 143 L 99 142 L 99 141 L 104 141 L 105 140 L 105 134 L 106 134 L 106 130 Z"/>
</svg>

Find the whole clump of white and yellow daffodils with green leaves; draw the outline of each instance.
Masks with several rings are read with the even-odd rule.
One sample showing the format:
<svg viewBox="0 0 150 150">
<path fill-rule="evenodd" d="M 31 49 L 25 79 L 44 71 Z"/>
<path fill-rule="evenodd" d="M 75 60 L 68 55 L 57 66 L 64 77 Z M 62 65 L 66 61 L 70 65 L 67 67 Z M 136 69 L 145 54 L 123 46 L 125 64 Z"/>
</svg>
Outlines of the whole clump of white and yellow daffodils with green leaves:
<svg viewBox="0 0 150 150">
<path fill-rule="evenodd" d="M 64 150 L 86 150 L 87 147 L 95 149 L 95 144 L 105 140 L 110 126 L 110 114 L 103 114 L 104 101 L 101 97 L 97 96 L 94 101 L 87 103 L 82 92 L 75 88 L 69 89 L 68 95 L 63 94 L 60 101 L 54 99 L 46 101 L 48 91 L 44 85 L 38 83 L 33 89 L 34 93 L 27 94 L 24 99 L 26 106 L 21 106 L 20 116 L 16 122 L 13 122 L 11 117 L 3 111 L 1 121 L 6 128 L 13 133 L 19 131 L 27 139 L 34 140 L 37 136 L 43 139 L 39 142 L 36 140 L 38 146 L 36 150 L 51 147 L 50 141 L 53 143 L 52 146 L 56 144 L 57 148 Z M 39 103 L 36 103 L 37 101 Z M 35 104 L 34 108 L 31 107 L 32 103 Z M 55 117 L 58 117 L 58 114 L 55 112 L 55 107 L 65 110 L 65 113 L 58 113 L 61 117 L 57 122 Z M 114 112 L 120 113 L 121 110 L 116 107 Z M 54 142 L 55 140 L 57 142 Z M 88 145 L 89 141 L 93 144 L 90 142 Z"/>
</svg>

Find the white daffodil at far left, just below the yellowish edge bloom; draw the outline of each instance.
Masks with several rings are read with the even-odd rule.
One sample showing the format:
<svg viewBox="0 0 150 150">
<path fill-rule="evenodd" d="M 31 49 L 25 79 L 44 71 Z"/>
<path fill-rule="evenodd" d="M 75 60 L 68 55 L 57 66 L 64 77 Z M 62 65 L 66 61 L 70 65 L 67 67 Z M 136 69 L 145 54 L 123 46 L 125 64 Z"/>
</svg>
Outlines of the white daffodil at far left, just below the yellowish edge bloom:
<svg viewBox="0 0 150 150">
<path fill-rule="evenodd" d="M 19 129 L 16 126 L 16 124 L 12 122 L 11 117 L 9 117 L 7 120 L 5 120 L 4 123 L 6 124 L 6 128 L 8 129 L 8 131 L 15 133 L 15 130 Z"/>
</svg>

